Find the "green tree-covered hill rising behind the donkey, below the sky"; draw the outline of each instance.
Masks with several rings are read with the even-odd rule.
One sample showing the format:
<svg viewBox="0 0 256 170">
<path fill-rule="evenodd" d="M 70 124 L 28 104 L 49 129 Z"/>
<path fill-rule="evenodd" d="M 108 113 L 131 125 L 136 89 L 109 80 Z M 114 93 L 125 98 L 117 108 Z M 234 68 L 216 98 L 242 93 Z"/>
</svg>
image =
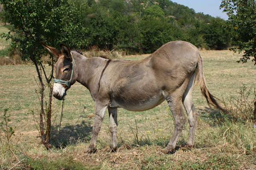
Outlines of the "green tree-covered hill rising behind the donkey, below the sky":
<svg viewBox="0 0 256 170">
<path fill-rule="evenodd" d="M 116 29 L 105 28 L 109 30 L 108 34 L 113 31 L 108 40 L 114 39 L 114 43 L 107 43 L 111 49 L 151 53 L 172 40 L 189 41 L 207 49 L 224 49 L 230 44 L 229 32 L 223 27 L 224 20 L 196 13 L 170 0 L 100 0 L 99 3 L 92 0 L 88 5 L 96 14 L 90 18 L 89 25 L 96 21 L 99 26 L 99 20 L 105 17 L 111 18 L 110 23 L 114 22 L 112 28 Z M 93 9 L 93 6 L 101 11 Z M 103 27 L 105 24 L 108 23 L 104 22 Z M 97 40 L 92 44 L 100 48 L 106 46 L 105 42 L 99 44 Z"/>
</svg>

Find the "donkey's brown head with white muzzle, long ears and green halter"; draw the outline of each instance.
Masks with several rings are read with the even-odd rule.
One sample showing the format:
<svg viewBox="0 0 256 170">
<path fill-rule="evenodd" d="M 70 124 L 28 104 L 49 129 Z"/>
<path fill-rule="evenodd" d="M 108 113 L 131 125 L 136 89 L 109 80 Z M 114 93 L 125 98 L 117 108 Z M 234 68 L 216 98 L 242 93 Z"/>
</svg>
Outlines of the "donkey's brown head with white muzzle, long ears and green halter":
<svg viewBox="0 0 256 170">
<path fill-rule="evenodd" d="M 75 80 L 73 80 L 75 61 L 66 45 L 61 45 L 61 50 L 58 50 L 43 43 L 41 44 L 50 54 L 58 58 L 54 66 L 56 75 L 53 84 L 53 96 L 62 100 L 66 95 L 67 89 L 75 83 Z"/>
</svg>

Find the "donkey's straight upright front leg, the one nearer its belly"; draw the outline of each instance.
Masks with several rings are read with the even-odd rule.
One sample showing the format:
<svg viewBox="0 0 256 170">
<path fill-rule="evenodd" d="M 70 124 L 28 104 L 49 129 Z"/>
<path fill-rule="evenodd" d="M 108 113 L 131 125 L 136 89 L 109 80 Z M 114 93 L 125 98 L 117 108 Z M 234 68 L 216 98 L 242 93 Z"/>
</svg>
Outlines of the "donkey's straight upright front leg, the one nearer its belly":
<svg viewBox="0 0 256 170">
<path fill-rule="evenodd" d="M 108 107 L 109 131 L 111 133 L 111 145 L 108 152 L 116 151 L 116 131 L 117 131 L 117 108 Z"/>
</svg>

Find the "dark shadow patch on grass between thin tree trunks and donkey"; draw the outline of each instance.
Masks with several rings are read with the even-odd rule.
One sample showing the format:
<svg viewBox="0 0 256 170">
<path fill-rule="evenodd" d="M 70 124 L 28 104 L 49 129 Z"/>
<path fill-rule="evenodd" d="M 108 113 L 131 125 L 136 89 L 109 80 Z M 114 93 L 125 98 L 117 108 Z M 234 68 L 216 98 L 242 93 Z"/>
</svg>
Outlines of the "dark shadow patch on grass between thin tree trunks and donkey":
<svg viewBox="0 0 256 170">
<path fill-rule="evenodd" d="M 59 129 L 59 126 L 53 126 L 51 132 L 51 144 L 56 148 L 64 148 L 68 144 L 77 144 L 79 142 L 88 142 L 91 139 L 91 122 L 82 121 L 76 125 L 66 125 Z"/>
</svg>

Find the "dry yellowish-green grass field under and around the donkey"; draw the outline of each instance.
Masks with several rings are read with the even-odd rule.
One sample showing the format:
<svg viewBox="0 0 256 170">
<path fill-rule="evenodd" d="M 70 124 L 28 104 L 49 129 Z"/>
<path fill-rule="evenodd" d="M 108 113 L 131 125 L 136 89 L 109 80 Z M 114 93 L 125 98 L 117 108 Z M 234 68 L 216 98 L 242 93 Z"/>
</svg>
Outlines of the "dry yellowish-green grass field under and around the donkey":
<svg viewBox="0 0 256 170">
<path fill-rule="evenodd" d="M 98 55 L 98 54 L 97 54 Z M 146 57 L 125 56 L 122 59 L 137 60 Z M 239 54 L 230 51 L 201 51 L 204 74 L 210 92 L 221 99 L 238 96 L 242 84 L 255 85 L 255 66 L 252 63 L 237 64 Z M 36 71 L 32 65 L 0 65 L 0 116 L 9 108 L 15 128 L 10 149 L 4 147 L 0 133 L 0 167 L 9 169 L 256 169 L 255 123 L 241 124 L 220 122 L 215 119 L 220 113 L 209 109 L 198 87 L 193 92 L 193 101 L 200 116 L 195 135 L 195 147 L 186 145 L 189 125 L 186 123 L 174 154 L 162 155 L 159 148 L 169 142 L 174 128 L 166 102 L 150 111 L 130 112 L 119 109 L 117 133 L 118 150 L 108 153 L 110 143 L 108 113 L 100 131 L 96 153 L 84 154 L 91 137 L 94 118 L 94 102 L 89 91 L 75 84 L 67 92 L 64 117 L 60 124 L 61 102 L 53 100 L 52 149 L 47 151 L 39 138 L 32 112 L 39 110 Z M 84 110 L 84 107 L 86 109 Z M 137 122 L 140 141 L 134 139 Z M 56 148 L 54 147 L 56 146 Z M 68 164 L 70 165 L 68 165 Z M 72 166 L 72 167 L 69 167 Z M 82 168 L 81 168 L 82 167 Z M 14 168 L 14 169 L 15 169 Z"/>
</svg>

